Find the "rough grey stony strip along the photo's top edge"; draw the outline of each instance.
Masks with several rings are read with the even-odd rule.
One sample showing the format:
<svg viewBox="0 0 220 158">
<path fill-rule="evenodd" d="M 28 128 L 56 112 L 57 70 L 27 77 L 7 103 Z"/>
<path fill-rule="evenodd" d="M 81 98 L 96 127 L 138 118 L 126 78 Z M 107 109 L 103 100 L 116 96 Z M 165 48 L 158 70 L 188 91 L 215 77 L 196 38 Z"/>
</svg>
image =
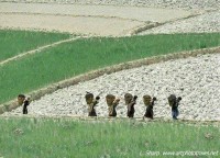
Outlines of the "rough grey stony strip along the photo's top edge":
<svg viewBox="0 0 220 158">
<path fill-rule="evenodd" d="M 0 2 L 136 5 L 186 10 L 215 10 L 220 8 L 220 0 L 0 0 Z"/>
</svg>

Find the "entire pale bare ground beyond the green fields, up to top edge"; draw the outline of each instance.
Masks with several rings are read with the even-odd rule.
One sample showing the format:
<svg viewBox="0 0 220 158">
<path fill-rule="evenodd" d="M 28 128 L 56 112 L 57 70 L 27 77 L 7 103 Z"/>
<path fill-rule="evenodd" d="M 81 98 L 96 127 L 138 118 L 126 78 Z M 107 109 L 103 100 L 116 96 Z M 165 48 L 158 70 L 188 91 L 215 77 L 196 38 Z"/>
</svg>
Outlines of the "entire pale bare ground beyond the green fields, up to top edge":
<svg viewBox="0 0 220 158">
<path fill-rule="evenodd" d="M 0 27 L 100 36 L 219 32 L 219 0 L 0 0 Z"/>
</svg>

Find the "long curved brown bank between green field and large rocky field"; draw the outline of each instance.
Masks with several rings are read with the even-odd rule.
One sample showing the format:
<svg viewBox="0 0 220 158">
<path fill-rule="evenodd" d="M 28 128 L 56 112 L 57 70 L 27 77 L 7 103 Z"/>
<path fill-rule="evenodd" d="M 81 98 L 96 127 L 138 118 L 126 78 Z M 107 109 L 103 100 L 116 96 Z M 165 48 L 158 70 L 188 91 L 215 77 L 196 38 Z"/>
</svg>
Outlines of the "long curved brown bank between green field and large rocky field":
<svg viewBox="0 0 220 158">
<path fill-rule="evenodd" d="M 52 93 L 58 89 L 63 89 L 63 88 L 66 88 L 66 87 L 73 86 L 73 84 L 77 84 L 82 81 L 95 79 L 105 74 L 109 75 L 109 74 L 113 74 L 113 72 L 121 71 L 124 69 L 141 67 L 144 65 L 146 66 L 146 65 L 157 64 L 157 63 L 167 61 L 167 60 L 172 60 L 172 59 L 196 57 L 198 55 L 216 54 L 216 53 L 220 53 L 220 46 L 213 47 L 213 48 L 205 48 L 205 49 L 174 53 L 174 54 L 168 54 L 168 55 L 154 56 L 154 57 L 150 57 L 150 58 L 143 58 L 143 59 L 138 59 L 138 60 L 133 60 L 133 61 L 128 61 L 128 63 L 106 67 L 102 69 L 89 71 L 87 74 L 84 74 L 84 75 L 80 75 L 80 76 L 57 82 L 57 83 L 53 83 L 43 89 L 33 91 L 33 92 L 29 93 L 28 95 L 31 95 L 32 100 L 38 100 L 38 99 L 41 99 L 41 97 L 43 97 L 47 93 Z M 10 102 L 7 102 L 7 103 L 0 105 L 0 114 L 4 113 L 6 111 L 11 111 L 16 108 L 18 108 L 16 99 L 14 99 Z"/>
</svg>

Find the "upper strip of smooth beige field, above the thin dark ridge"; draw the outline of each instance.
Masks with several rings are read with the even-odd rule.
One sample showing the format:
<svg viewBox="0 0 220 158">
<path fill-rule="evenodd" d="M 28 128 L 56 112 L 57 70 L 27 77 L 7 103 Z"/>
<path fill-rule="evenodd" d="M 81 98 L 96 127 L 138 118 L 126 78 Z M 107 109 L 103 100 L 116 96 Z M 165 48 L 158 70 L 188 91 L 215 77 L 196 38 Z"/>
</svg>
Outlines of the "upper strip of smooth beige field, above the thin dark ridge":
<svg viewBox="0 0 220 158">
<path fill-rule="evenodd" d="M 182 19 L 202 10 L 180 10 L 166 8 L 143 8 L 143 7 L 117 7 L 117 5 L 92 5 L 92 4 L 62 4 L 62 3 L 1 3 L 1 13 L 24 13 L 24 14 L 51 14 L 70 16 L 97 16 L 119 18 L 121 20 L 135 20 L 141 22 L 157 21 L 166 22 L 174 19 Z M 85 12 L 86 11 L 86 12 Z M 132 12 L 132 13 L 131 13 Z"/>
</svg>

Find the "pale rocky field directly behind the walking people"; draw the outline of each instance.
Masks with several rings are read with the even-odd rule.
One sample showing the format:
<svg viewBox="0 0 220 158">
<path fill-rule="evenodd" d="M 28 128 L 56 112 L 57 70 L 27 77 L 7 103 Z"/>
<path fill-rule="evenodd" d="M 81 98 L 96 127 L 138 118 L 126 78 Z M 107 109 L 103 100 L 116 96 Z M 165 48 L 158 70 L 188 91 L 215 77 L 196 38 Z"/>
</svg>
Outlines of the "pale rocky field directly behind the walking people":
<svg viewBox="0 0 220 158">
<path fill-rule="evenodd" d="M 105 75 L 81 82 L 34 101 L 29 106 L 31 115 L 87 115 L 86 91 L 100 93 L 100 103 L 96 108 L 99 116 L 108 115 L 105 97 L 112 93 L 121 98 L 118 116 L 127 116 L 123 101 L 125 92 L 139 95 L 135 117 L 144 114 L 142 101 L 144 94 L 157 98 L 154 108 L 155 117 L 170 117 L 167 97 L 172 93 L 183 97 L 179 105 L 179 119 L 197 121 L 220 121 L 220 54 L 204 55 L 196 58 L 170 60 Z M 19 108 L 3 115 L 21 115 Z"/>
</svg>

